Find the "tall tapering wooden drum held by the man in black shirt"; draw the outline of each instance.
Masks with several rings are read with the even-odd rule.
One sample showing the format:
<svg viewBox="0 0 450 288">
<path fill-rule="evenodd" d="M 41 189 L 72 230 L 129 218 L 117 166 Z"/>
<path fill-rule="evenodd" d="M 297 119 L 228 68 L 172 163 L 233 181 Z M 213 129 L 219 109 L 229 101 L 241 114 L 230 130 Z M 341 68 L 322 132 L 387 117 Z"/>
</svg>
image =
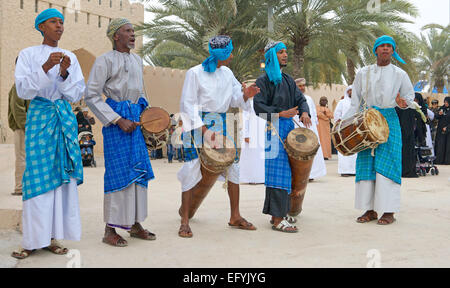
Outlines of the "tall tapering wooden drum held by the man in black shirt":
<svg viewBox="0 0 450 288">
<path fill-rule="evenodd" d="M 286 138 L 285 148 L 292 171 L 291 206 L 288 214 L 292 217 L 298 216 L 302 211 L 309 175 L 319 147 L 316 134 L 306 128 L 294 129 Z"/>
</svg>

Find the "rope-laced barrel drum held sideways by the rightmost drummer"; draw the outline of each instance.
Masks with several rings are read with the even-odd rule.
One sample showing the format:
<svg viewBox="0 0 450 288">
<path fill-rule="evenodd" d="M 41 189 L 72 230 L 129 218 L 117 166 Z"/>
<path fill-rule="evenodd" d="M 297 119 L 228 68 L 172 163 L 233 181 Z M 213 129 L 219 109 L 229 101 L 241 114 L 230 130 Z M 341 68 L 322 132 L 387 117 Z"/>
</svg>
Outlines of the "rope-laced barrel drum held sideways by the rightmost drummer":
<svg viewBox="0 0 450 288">
<path fill-rule="evenodd" d="M 336 149 L 351 156 L 366 149 L 375 149 L 389 138 L 389 125 L 376 109 L 365 110 L 344 121 L 338 121 L 331 132 Z"/>
</svg>

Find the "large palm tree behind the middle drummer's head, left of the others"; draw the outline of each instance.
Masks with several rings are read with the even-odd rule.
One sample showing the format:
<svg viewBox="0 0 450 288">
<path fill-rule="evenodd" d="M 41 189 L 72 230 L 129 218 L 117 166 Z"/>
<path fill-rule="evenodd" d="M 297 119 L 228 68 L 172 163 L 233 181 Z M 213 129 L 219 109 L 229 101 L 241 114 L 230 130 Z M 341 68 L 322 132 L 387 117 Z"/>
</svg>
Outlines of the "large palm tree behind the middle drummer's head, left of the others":
<svg viewBox="0 0 450 288">
<path fill-rule="evenodd" d="M 267 18 L 259 9 L 259 0 L 158 0 L 149 5 L 148 12 L 155 15 L 153 21 L 137 30 L 150 41 L 141 54 L 155 59 L 154 51 L 167 42 L 187 47 L 159 51 L 158 55 L 181 57 L 199 64 L 209 56 L 208 40 L 215 35 L 233 38 L 234 60 L 232 69 L 239 80 L 254 76 L 259 71 L 261 58 L 258 52 L 267 41 Z M 260 12 L 259 12 L 260 11 Z M 153 56 L 152 56 L 153 55 Z M 148 56 L 147 56 L 148 57 Z M 180 67 L 173 67 L 180 68 Z"/>
</svg>

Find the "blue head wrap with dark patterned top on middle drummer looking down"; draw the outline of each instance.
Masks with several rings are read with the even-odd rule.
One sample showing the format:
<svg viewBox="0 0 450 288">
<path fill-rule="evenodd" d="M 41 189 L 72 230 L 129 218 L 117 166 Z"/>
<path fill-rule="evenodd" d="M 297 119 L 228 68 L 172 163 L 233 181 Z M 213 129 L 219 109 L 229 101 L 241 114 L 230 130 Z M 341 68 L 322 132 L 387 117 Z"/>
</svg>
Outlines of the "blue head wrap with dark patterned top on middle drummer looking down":
<svg viewBox="0 0 450 288">
<path fill-rule="evenodd" d="M 228 36 L 216 36 L 209 40 L 209 54 L 211 55 L 203 62 L 206 72 L 215 72 L 220 61 L 230 58 L 233 51 L 233 41 Z"/>
</svg>

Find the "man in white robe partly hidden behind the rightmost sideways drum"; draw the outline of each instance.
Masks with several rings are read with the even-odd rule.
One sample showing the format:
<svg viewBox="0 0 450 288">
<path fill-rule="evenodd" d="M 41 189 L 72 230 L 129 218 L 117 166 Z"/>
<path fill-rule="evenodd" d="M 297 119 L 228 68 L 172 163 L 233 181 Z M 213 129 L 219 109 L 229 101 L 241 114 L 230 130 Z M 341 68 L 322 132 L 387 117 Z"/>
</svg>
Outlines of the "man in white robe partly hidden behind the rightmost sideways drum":
<svg viewBox="0 0 450 288">
<path fill-rule="evenodd" d="M 350 109 L 350 106 L 352 105 L 352 89 L 352 86 L 347 87 L 344 99 L 339 101 L 336 106 L 336 109 L 334 110 L 335 121 L 341 120 Z M 338 151 L 338 173 L 341 174 L 342 177 L 355 176 L 357 157 L 357 154 L 352 156 L 344 156 Z"/>
</svg>

